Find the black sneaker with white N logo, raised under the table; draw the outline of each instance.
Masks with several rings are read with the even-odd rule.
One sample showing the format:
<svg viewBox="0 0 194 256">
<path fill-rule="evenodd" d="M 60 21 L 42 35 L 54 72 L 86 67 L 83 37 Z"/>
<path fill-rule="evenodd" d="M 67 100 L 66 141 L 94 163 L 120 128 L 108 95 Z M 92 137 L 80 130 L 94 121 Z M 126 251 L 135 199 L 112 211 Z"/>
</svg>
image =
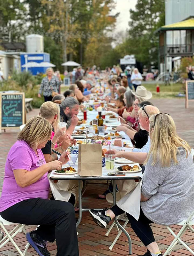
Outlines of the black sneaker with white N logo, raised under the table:
<svg viewBox="0 0 194 256">
<path fill-rule="evenodd" d="M 104 209 L 102 211 L 97 211 L 94 209 L 90 209 L 90 215 L 93 220 L 98 224 L 101 228 L 106 228 L 107 224 L 111 221 L 111 218 L 105 214 L 105 211 L 108 209 Z"/>
</svg>

